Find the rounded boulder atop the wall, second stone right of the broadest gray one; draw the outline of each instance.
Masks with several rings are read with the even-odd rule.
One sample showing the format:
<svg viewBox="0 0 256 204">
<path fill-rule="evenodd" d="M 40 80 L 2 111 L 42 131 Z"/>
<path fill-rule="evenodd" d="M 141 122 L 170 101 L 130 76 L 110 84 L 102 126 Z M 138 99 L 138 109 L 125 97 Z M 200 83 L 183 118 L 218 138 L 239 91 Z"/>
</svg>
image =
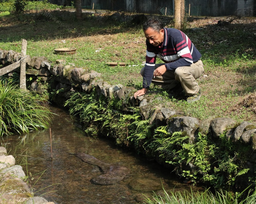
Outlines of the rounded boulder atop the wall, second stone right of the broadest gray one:
<svg viewBox="0 0 256 204">
<path fill-rule="evenodd" d="M 235 121 L 231 118 L 217 117 L 211 121 L 210 128 L 212 130 L 212 136 L 219 138 L 221 134 L 227 129 L 228 126 L 234 124 Z"/>
</svg>

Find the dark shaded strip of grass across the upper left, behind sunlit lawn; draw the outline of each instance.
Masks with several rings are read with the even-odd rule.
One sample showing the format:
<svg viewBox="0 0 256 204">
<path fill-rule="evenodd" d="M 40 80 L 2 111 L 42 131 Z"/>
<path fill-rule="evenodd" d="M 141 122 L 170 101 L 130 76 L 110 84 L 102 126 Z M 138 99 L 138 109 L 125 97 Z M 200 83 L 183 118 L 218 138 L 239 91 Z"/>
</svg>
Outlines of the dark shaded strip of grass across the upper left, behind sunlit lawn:
<svg viewBox="0 0 256 204">
<path fill-rule="evenodd" d="M 76 38 L 123 32 L 137 32 L 142 29 L 143 19 L 120 14 L 100 15 L 98 13 L 83 13 L 83 20 L 77 21 L 72 11 L 47 11 L 26 13 L 19 16 L 10 15 L 2 18 L 0 42 L 54 40 L 59 38 Z M 170 18 L 171 20 L 171 18 Z M 0 24 L 1 25 L 1 24 Z"/>
</svg>

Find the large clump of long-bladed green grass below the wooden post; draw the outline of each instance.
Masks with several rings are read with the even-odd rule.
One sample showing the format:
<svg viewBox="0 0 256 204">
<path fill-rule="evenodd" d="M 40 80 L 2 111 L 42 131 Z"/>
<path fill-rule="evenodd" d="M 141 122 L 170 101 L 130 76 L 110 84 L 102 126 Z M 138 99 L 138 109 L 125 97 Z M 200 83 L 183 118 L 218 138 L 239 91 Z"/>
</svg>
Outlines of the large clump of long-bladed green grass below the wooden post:
<svg viewBox="0 0 256 204">
<path fill-rule="evenodd" d="M 20 90 L 15 84 L 1 81 L 0 136 L 47 128 L 51 112 L 40 105 L 42 102 L 42 99 Z"/>
</svg>

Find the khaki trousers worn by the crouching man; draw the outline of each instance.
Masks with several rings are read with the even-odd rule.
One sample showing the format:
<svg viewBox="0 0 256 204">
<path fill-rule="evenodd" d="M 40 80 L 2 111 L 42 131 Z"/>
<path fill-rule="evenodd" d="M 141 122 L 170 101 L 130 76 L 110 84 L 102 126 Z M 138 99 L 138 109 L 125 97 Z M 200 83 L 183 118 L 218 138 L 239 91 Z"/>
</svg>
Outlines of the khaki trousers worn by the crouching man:
<svg viewBox="0 0 256 204">
<path fill-rule="evenodd" d="M 156 64 L 155 69 L 165 63 Z M 144 68 L 141 69 L 141 75 L 144 75 Z M 173 71 L 166 71 L 161 77 L 153 77 L 152 83 L 166 90 L 174 88 L 179 82 L 186 95 L 195 95 L 199 91 L 198 79 L 204 73 L 204 65 L 201 60 L 190 66 L 178 67 Z"/>
</svg>

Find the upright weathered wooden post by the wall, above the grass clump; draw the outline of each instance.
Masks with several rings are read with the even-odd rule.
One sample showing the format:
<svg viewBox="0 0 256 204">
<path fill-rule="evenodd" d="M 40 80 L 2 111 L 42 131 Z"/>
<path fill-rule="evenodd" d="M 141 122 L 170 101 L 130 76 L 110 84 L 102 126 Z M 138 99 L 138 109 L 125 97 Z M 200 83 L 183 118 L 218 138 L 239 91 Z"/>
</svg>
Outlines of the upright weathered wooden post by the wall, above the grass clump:
<svg viewBox="0 0 256 204">
<path fill-rule="evenodd" d="M 22 39 L 19 88 L 26 90 L 27 40 Z"/>
</svg>

